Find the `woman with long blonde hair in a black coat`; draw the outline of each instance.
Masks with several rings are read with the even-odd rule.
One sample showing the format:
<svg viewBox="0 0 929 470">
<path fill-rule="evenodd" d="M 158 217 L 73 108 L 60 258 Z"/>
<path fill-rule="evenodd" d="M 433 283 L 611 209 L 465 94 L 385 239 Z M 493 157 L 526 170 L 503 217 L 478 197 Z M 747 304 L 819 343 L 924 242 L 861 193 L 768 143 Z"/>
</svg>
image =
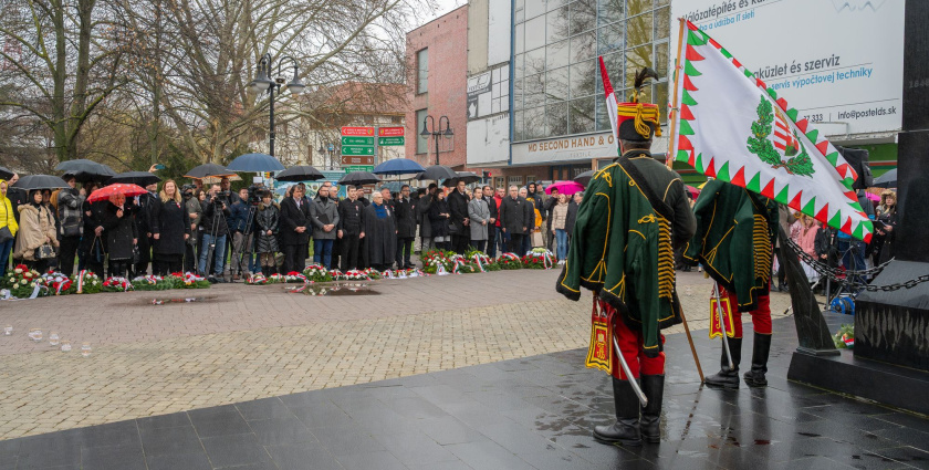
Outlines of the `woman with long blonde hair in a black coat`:
<svg viewBox="0 0 929 470">
<path fill-rule="evenodd" d="M 190 238 L 190 215 L 181 202 L 174 179 L 161 185 L 158 200 L 150 207 L 153 272 L 167 275 L 182 269 L 182 259 Z"/>
</svg>

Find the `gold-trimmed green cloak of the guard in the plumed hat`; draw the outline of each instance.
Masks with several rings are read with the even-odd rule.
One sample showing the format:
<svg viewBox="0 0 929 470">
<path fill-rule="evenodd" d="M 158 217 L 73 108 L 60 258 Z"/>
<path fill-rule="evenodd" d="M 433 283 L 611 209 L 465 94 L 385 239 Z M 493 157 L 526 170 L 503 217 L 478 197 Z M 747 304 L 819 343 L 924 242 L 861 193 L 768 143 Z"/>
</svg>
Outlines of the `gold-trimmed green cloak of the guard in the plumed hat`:
<svg viewBox="0 0 929 470">
<path fill-rule="evenodd" d="M 680 323 L 675 293 L 672 211 L 626 157 L 597 171 L 577 209 L 556 289 L 572 300 L 594 291 L 639 330 L 644 352 L 661 352 L 660 330 Z"/>
</svg>

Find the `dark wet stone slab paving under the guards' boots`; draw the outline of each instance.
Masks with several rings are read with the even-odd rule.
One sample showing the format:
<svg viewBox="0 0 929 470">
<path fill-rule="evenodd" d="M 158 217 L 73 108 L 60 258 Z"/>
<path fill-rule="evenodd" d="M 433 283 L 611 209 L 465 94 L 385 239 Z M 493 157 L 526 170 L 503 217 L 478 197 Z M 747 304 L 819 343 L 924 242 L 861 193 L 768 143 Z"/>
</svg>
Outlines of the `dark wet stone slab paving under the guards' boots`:
<svg viewBox="0 0 929 470">
<path fill-rule="evenodd" d="M 929 420 L 787 383 L 793 318 L 774 330 L 769 387 L 739 390 L 700 387 L 668 336 L 660 445 L 593 441 L 610 384 L 574 349 L 4 440 L 0 469 L 929 468 Z"/>
</svg>

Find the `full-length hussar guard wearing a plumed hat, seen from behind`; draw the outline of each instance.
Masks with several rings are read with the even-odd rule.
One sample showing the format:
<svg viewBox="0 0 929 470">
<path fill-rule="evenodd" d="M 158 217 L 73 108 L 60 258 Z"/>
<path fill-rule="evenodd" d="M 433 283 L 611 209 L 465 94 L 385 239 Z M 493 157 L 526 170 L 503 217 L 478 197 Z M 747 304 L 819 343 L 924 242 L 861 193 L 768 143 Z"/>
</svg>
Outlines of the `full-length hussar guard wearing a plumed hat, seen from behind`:
<svg viewBox="0 0 929 470">
<path fill-rule="evenodd" d="M 637 92 L 646 71 L 655 76 L 648 69 L 638 73 Z M 591 179 L 556 286 L 572 300 L 582 286 L 595 294 L 586 365 L 613 375 L 616 422 L 594 429 L 594 438 L 607 443 L 660 440 L 661 330 L 681 321 L 674 249 L 690 239 L 696 223 L 680 177 L 649 153 L 655 134 L 658 106 L 637 96 L 618 105 L 622 156 Z M 629 382 L 638 379 L 640 387 Z"/>
</svg>

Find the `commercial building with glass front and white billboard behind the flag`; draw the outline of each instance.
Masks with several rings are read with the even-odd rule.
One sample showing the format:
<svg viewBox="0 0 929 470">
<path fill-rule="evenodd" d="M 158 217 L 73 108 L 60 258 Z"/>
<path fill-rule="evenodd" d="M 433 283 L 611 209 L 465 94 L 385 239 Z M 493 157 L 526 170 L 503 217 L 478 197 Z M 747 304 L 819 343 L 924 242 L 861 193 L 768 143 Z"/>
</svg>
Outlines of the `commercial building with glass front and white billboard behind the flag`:
<svg viewBox="0 0 929 470">
<path fill-rule="evenodd" d="M 488 169 L 493 184 L 503 186 L 570 179 L 609 163 L 617 149 L 597 56 L 604 58 L 620 102 L 630 98 L 636 71 L 648 66 L 658 72 L 661 79 L 646 86 L 643 100 L 666 105 L 662 132 L 670 134 L 672 51 L 676 19 L 681 17 L 727 44 L 759 74 L 793 70 L 777 76 L 779 94 L 808 114 L 833 143 L 870 150 L 876 174 L 896 166 L 900 118 L 893 114 L 902 95 L 902 2 L 722 3 L 724 8 L 713 0 L 471 0 L 467 81 L 458 85 L 464 93 L 443 91 L 443 104 L 458 113 L 449 117 L 456 123 L 455 138 L 467 143 L 467 168 Z M 803 11 L 801 18 L 797 11 Z M 452 13 L 440 20 L 449 21 Z M 849 27 L 862 32 L 854 40 L 842 33 Z M 785 28 L 817 30 L 822 40 L 800 38 Z M 784 36 L 758 33 L 775 30 Z M 446 38 L 464 43 L 457 35 Z M 791 69 L 792 62 L 800 65 Z M 436 97 L 431 90 L 428 96 Z M 467 139 L 458 134 L 459 119 L 467 122 Z M 667 137 L 656 138 L 653 152 L 667 149 Z M 686 180 L 703 179 L 687 165 L 676 163 L 675 168 Z"/>
</svg>

